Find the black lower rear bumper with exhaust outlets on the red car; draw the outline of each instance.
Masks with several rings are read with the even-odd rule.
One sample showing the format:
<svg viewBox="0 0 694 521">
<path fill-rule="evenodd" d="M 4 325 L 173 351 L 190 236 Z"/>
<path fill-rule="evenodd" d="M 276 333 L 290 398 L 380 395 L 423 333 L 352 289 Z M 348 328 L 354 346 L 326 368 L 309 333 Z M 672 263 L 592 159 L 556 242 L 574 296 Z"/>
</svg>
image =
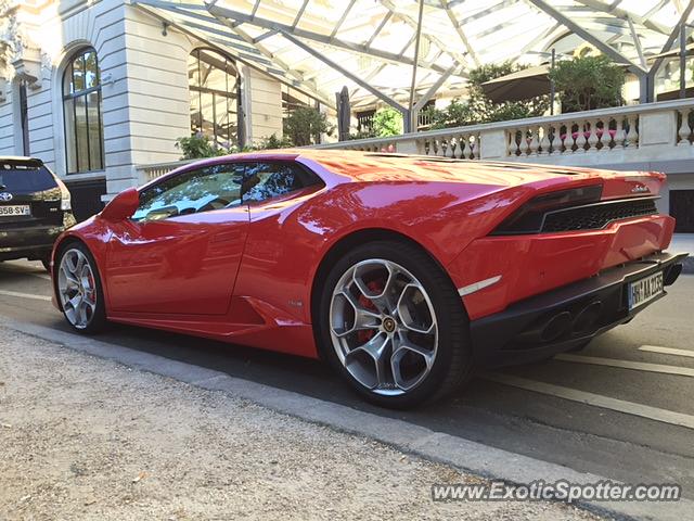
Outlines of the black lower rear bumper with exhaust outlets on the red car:
<svg viewBox="0 0 694 521">
<path fill-rule="evenodd" d="M 664 271 L 665 285 L 669 285 L 680 275 L 684 257 L 685 253 L 648 255 L 473 320 L 471 336 L 476 364 L 485 367 L 525 364 L 581 346 L 608 329 L 628 322 L 667 294 L 664 292 L 630 312 L 629 282 Z M 554 329 L 548 330 L 548 327 Z"/>
</svg>

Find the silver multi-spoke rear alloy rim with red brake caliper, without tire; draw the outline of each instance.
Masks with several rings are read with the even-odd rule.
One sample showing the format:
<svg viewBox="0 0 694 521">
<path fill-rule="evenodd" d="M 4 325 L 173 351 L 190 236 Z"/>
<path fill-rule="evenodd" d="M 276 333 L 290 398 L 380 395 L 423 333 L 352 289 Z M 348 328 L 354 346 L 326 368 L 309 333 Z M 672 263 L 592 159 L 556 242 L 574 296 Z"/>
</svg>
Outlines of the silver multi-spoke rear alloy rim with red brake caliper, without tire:
<svg viewBox="0 0 694 521">
<path fill-rule="evenodd" d="M 331 298 L 330 325 L 339 361 L 373 393 L 404 394 L 434 365 L 438 325 L 429 295 L 391 260 L 362 260 L 343 274 Z"/>
</svg>

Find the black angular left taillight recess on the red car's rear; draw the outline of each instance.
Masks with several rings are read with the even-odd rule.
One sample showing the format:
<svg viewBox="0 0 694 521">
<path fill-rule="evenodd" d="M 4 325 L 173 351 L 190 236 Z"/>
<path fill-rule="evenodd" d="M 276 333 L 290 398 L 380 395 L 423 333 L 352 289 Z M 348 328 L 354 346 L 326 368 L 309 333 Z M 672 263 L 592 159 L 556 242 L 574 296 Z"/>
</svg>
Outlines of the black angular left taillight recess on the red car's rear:
<svg viewBox="0 0 694 521">
<path fill-rule="evenodd" d="M 539 233 L 542 229 L 544 216 L 549 212 L 597 203 L 602 192 L 602 185 L 592 185 L 590 187 L 573 188 L 538 195 L 506 217 L 491 234 Z"/>
</svg>

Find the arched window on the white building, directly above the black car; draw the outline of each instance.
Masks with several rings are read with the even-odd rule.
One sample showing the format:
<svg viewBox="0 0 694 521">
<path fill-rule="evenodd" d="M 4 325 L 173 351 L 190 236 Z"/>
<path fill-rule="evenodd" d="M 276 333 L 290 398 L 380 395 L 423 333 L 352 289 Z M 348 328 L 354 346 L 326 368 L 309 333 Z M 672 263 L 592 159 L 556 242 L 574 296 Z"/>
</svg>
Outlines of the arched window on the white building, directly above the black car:
<svg viewBox="0 0 694 521">
<path fill-rule="evenodd" d="M 63 76 L 65 157 L 67 173 L 104 168 L 104 132 L 101 120 L 101 78 L 97 51 L 73 54 Z"/>
</svg>

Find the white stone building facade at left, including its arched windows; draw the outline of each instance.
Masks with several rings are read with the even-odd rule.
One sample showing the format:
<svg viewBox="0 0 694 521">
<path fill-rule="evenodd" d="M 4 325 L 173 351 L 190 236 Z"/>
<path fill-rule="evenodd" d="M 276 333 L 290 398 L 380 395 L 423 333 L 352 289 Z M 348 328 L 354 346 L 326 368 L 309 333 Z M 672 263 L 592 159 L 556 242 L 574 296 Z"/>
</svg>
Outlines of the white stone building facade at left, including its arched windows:
<svg viewBox="0 0 694 521">
<path fill-rule="evenodd" d="M 41 158 L 78 217 L 143 182 L 137 165 L 179 160 L 192 130 L 282 136 L 280 81 L 129 2 L 0 1 L 0 155 Z"/>
</svg>

